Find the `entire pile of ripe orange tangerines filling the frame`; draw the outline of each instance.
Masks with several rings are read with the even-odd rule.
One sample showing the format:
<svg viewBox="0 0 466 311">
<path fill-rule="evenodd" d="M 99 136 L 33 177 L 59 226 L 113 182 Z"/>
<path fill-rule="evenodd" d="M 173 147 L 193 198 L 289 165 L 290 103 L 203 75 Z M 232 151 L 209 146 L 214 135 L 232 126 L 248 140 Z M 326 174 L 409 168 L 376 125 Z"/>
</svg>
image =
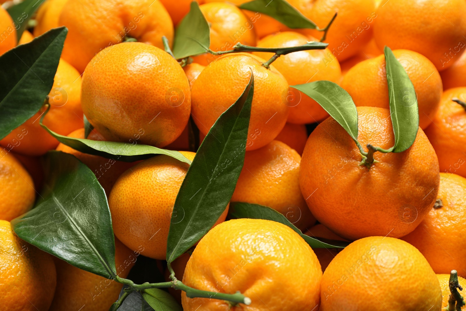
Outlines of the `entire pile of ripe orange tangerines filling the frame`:
<svg viewBox="0 0 466 311">
<path fill-rule="evenodd" d="M 244 8 L 254 1 L 219 1 L 29 1 L 22 28 L 11 14 L 21 1 L 0 8 L 2 64 L 59 27 L 68 31 L 43 105 L 1 135 L 0 310 L 466 310 L 466 1 L 272 0 L 262 12 Z M 180 59 L 177 32 L 201 32 L 188 25 L 194 8 L 210 29 L 210 45 Z M 295 17 L 287 19 L 290 12 Z M 315 27 L 294 26 L 299 19 Z M 316 48 L 289 52 L 309 42 Z M 395 100 L 412 97 L 411 84 L 397 88 L 388 55 L 414 88 L 418 113 L 411 119 L 399 118 L 407 105 Z M 2 79 L 15 74 L 10 66 L 0 71 Z M 322 81 L 334 89 L 312 84 Z M 241 102 L 248 90 L 250 112 L 248 100 Z M 336 90 L 352 99 L 356 125 L 337 116 L 345 112 L 342 101 L 329 100 Z M 16 91 L 0 91 L 0 120 L 14 118 L 2 105 Z M 238 119 L 228 121 L 235 107 Z M 406 124 L 414 126 L 412 141 L 397 151 Z M 116 159 L 76 141 L 126 143 L 128 154 L 151 146 L 162 154 Z M 227 160 L 202 163 L 210 152 Z M 87 255 L 59 254 L 71 236 L 60 226 L 93 235 L 70 212 L 81 184 L 64 187 L 73 200 L 62 200 L 50 181 L 58 164 L 44 159 L 58 153 L 94 173 L 98 183 L 85 192 L 103 189 L 111 222 L 96 220 L 94 228 L 113 229 L 117 276 L 74 261 Z M 197 200 L 192 213 L 208 218 L 202 202 L 220 202 L 220 216 L 202 234 L 194 230 L 204 235 L 200 241 L 186 237 L 199 218 L 184 219 L 188 203 L 178 204 L 195 165 L 206 166 L 208 176 L 185 200 Z M 68 212 L 45 223 L 57 226 L 56 236 L 42 248 L 40 230 L 21 239 L 16 227 L 47 198 L 55 200 L 51 220 Z M 241 217 L 238 202 L 248 203 Z M 190 244 L 169 259 L 182 221 L 189 224 L 179 243 Z M 65 248 L 76 248 L 70 241 Z M 101 256 L 98 247 L 95 253 Z"/>
</svg>

